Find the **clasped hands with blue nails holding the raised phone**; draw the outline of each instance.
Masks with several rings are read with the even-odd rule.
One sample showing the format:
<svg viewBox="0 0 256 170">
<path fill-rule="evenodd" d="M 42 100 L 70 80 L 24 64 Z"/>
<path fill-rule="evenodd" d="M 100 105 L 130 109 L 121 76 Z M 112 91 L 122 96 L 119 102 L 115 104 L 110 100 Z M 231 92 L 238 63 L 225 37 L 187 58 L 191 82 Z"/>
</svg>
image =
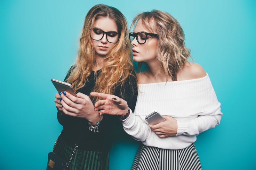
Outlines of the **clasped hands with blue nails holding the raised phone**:
<svg viewBox="0 0 256 170">
<path fill-rule="evenodd" d="M 59 93 L 55 94 L 56 99 L 54 100 L 56 107 L 58 107 L 65 115 L 84 118 L 89 122 L 92 122 L 92 124 L 99 121 L 99 112 L 93 110 L 93 103 L 87 95 L 79 92 L 76 94 L 77 97 L 75 97 L 68 92 L 65 93 L 61 92 L 61 95 Z"/>
</svg>

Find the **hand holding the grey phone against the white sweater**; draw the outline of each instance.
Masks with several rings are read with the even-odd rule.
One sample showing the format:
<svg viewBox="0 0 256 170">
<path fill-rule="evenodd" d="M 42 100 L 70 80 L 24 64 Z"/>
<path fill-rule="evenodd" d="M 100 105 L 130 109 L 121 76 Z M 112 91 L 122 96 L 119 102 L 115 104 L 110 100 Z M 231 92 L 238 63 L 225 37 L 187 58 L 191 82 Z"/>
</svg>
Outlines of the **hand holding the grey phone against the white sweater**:
<svg viewBox="0 0 256 170">
<path fill-rule="evenodd" d="M 166 121 L 156 125 L 149 125 L 149 128 L 161 138 L 176 136 L 178 129 L 176 119 L 172 118 L 171 116 L 163 117 Z"/>
</svg>

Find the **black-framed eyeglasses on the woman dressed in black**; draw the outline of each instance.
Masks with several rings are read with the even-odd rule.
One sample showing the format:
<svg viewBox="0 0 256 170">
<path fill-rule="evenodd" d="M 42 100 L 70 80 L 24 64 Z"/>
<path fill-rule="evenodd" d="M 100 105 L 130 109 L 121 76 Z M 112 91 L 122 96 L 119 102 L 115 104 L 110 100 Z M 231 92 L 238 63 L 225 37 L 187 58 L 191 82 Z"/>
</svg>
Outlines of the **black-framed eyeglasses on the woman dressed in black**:
<svg viewBox="0 0 256 170">
<path fill-rule="evenodd" d="M 113 31 L 105 32 L 100 29 L 93 28 L 90 37 L 92 40 L 100 41 L 103 38 L 104 34 L 106 34 L 107 41 L 113 44 L 119 41 L 121 35 Z"/>
</svg>

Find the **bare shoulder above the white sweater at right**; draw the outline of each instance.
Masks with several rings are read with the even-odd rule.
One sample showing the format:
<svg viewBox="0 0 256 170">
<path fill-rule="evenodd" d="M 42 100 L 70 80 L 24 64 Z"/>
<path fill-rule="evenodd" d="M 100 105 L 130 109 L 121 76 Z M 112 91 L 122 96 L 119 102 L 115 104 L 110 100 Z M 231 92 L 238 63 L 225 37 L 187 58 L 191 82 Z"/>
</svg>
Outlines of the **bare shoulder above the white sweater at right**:
<svg viewBox="0 0 256 170">
<path fill-rule="evenodd" d="M 204 68 L 197 63 L 186 63 L 177 75 L 177 80 L 191 80 L 206 76 Z"/>
</svg>

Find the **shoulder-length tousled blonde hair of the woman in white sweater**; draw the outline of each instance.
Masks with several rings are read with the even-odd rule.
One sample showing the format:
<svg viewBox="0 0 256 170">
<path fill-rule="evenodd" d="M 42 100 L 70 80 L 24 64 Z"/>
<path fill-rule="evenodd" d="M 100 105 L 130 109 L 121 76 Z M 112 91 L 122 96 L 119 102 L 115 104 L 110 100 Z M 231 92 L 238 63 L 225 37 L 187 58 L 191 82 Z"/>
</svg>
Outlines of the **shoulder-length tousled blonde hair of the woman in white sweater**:
<svg viewBox="0 0 256 170">
<path fill-rule="evenodd" d="M 166 82 L 169 76 L 172 81 L 177 81 L 177 73 L 186 62 L 189 63 L 189 57 L 193 61 L 190 50 L 185 46 L 185 35 L 179 22 L 167 12 L 152 10 L 137 15 L 132 21 L 131 29 L 134 29 L 139 20 L 149 31 L 155 31 L 159 36 L 156 60 L 161 64 L 161 70 L 158 74 L 163 70 Z M 143 65 L 147 67 L 145 62 L 138 63 L 138 72 L 143 71 Z"/>
</svg>

